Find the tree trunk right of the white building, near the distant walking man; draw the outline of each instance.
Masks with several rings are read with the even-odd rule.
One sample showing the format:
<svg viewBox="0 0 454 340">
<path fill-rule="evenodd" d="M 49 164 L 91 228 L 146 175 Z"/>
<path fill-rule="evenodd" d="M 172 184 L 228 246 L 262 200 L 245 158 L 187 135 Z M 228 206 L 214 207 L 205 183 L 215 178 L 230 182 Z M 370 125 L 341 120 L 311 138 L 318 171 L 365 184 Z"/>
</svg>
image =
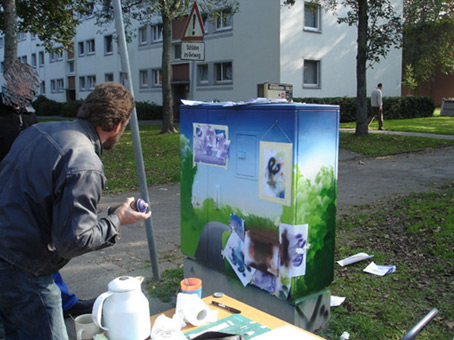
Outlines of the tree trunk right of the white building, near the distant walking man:
<svg viewBox="0 0 454 340">
<path fill-rule="evenodd" d="M 358 54 L 356 55 L 356 135 L 366 136 L 369 134 L 367 124 L 367 0 L 358 1 Z"/>
</svg>

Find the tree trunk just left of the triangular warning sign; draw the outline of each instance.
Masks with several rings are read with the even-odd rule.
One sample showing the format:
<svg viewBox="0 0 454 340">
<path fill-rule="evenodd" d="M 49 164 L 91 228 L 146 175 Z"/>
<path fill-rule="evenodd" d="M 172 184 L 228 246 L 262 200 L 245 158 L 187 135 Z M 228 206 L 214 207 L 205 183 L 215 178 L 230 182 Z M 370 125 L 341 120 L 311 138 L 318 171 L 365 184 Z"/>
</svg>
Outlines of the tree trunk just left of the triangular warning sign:
<svg viewBox="0 0 454 340">
<path fill-rule="evenodd" d="M 161 5 L 163 6 L 163 5 Z M 172 18 L 162 8 L 162 129 L 161 133 L 177 132 L 173 126 L 173 94 L 170 54 L 172 51 Z"/>
</svg>

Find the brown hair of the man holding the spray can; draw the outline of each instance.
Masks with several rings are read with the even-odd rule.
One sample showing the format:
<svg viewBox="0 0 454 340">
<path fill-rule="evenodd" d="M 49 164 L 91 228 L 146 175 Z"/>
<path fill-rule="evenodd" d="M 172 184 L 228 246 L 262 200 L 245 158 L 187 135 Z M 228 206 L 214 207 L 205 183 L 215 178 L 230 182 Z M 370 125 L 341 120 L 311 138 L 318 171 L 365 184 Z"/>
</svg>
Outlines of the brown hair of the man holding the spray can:
<svg viewBox="0 0 454 340">
<path fill-rule="evenodd" d="M 77 118 L 86 119 L 104 131 L 112 131 L 118 123 L 128 121 L 133 108 L 131 92 L 122 84 L 109 81 L 96 86 L 87 96 Z"/>
</svg>

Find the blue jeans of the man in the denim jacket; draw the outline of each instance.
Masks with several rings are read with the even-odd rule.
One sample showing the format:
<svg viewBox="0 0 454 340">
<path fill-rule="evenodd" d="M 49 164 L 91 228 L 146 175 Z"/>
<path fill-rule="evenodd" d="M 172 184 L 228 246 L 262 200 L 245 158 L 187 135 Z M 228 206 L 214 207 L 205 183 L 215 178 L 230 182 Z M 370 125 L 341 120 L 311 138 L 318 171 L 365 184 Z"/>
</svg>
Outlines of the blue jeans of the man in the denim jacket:
<svg viewBox="0 0 454 340">
<path fill-rule="evenodd" d="M 0 259 L 0 287 L 5 340 L 68 340 L 52 275 L 35 276 Z"/>
</svg>

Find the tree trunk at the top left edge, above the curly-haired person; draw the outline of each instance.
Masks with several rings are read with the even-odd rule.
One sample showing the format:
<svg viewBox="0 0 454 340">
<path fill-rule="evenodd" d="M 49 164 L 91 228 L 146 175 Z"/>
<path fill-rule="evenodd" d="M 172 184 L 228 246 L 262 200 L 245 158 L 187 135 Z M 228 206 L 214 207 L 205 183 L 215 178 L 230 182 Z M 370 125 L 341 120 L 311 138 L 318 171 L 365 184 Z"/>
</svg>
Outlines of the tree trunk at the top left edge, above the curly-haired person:
<svg viewBox="0 0 454 340">
<path fill-rule="evenodd" d="M 17 59 L 17 14 L 15 0 L 3 0 L 5 15 L 5 59 L 3 72 L 6 72 Z"/>
</svg>

